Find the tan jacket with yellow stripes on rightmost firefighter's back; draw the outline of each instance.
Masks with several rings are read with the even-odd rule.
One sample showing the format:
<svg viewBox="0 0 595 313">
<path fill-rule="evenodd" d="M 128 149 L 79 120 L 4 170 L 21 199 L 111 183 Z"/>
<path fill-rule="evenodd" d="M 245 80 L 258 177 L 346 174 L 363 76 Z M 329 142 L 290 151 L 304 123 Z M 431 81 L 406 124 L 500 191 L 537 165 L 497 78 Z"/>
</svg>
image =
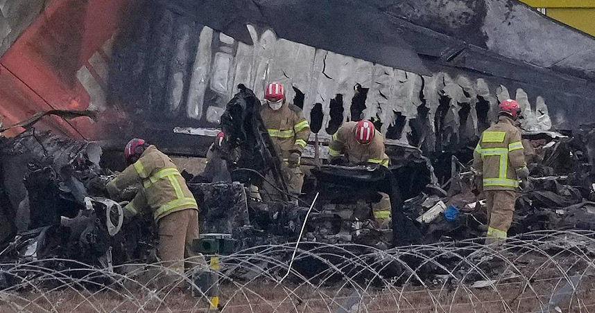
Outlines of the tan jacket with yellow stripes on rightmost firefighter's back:
<svg viewBox="0 0 595 313">
<path fill-rule="evenodd" d="M 506 116 L 481 134 L 473 167 L 483 175 L 483 190 L 516 190 L 517 172 L 526 168 L 521 132 Z"/>
</svg>

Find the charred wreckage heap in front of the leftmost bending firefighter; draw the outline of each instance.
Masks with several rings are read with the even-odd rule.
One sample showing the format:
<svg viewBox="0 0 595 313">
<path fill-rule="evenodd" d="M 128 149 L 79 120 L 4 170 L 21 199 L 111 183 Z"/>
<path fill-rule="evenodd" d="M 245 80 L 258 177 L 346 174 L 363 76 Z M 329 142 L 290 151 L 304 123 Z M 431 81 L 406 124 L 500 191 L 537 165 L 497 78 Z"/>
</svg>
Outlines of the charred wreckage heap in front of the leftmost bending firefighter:
<svg viewBox="0 0 595 313">
<path fill-rule="evenodd" d="M 2 138 L 0 145 L 7 217 L 1 223 L 10 229 L 0 238 L 0 263 L 37 261 L 55 269 L 85 264 L 110 271 L 113 265 L 148 259 L 150 221 L 122 227 L 121 206 L 104 197 L 110 171 L 99 165 L 102 150 L 96 143 L 32 128 Z"/>
</svg>

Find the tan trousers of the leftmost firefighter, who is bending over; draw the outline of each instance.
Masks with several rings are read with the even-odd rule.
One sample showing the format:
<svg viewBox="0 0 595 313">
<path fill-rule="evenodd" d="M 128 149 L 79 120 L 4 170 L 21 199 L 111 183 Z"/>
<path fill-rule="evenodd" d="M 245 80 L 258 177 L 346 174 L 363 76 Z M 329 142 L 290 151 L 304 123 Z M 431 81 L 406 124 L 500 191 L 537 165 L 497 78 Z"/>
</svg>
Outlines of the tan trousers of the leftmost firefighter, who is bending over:
<svg viewBox="0 0 595 313">
<path fill-rule="evenodd" d="M 158 222 L 159 258 L 164 267 L 183 278 L 184 257 L 190 269 L 206 269 L 201 253 L 192 251 L 192 241 L 198 239 L 198 211 L 187 209 L 165 215 Z"/>
</svg>

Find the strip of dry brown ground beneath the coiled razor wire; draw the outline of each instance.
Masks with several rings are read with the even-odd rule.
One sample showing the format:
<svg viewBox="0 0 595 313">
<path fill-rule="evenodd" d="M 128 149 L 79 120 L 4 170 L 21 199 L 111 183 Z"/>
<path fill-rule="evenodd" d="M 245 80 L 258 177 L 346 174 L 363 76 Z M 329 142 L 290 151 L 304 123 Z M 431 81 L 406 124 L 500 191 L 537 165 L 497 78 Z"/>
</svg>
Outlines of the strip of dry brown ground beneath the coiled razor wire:
<svg viewBox="0 0 595 313">
<path fill-rule="evenodd" d="M 369 289 L 362 295 L 354 289 L 296 287 L 270 282 L 226 284 L 221 288 L 223 312 L 592 312 L 595 310 L 595 280 L 583 277 L 578 293 L 561 292 L 559 279 L 535 280 L 528 285 L 510 282 L 481 289 L 463 285 L 445 287 L 390 287 Z M 553 291 L 557 292 L 553 292 Z M 555 296 L 552 296 L 552 295 Z M 560 298 L 558 298 L 560 297 Z M 205 298 L 189 292 L 134 293 L 118 290 L 89 292 L 0 293 L 0 313 L 17 312 L 207 312 Z M 553 301 L 552 301 L 553 299 Z M 341 310 L 344 307 L 345 310 Z"/>
</svg>

